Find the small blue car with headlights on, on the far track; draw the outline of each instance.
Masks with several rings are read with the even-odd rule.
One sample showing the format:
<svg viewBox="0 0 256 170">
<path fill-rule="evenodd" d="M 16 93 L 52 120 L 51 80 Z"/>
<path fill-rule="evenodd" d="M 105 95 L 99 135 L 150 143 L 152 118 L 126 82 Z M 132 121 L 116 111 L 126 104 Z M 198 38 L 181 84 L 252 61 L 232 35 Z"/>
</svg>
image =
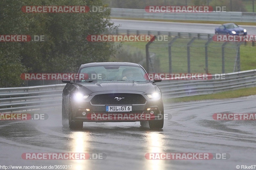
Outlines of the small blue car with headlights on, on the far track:
<svg viewBox="0 0 256 170">
<path fill-rule="evenodd" d="M 247 35 L 246 29 L 234 24 L 227 23 L 215 28 L 215 34 L 223 35 Z"/>
</svg>

